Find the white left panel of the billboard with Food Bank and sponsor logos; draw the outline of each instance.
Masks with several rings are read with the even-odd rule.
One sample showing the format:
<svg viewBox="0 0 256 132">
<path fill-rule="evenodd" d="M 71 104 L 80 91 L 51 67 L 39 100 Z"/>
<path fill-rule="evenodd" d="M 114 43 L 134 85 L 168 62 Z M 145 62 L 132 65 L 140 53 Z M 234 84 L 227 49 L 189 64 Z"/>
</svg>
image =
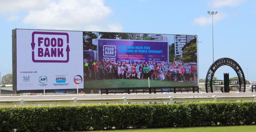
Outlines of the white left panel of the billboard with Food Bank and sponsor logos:
<svg viewBox="0 0 256 132">
<path fill-rule="evenodd" d="M 17 29 L 17 91 L 83 86 L 81 38 L 82 32 Z"/>
</svg>

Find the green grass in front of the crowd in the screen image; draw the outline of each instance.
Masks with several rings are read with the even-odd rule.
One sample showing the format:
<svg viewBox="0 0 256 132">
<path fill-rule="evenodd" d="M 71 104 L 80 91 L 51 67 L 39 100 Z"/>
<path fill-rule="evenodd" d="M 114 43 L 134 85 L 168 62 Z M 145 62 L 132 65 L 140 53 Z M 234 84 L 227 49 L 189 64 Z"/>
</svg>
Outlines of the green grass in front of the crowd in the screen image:
<svg viewBox="0 0 256 132">
<path fill-rule="evenodd" d="M 150 80 L 150 87 L 197 86 L 194 82 Z M 148 79 L 108 79 L 84 82 L 85 88 L 148 87 Z"/>
</svg>

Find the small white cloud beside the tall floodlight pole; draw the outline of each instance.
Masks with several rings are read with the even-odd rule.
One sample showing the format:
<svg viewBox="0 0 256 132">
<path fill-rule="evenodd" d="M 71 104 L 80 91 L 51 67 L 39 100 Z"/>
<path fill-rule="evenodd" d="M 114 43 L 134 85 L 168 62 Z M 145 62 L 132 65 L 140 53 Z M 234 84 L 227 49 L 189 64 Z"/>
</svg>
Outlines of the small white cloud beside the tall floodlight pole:
<svg viewBox="0 0 256 132">
<path fill-rule="evenodd" d="M 219 22 L 220 20 L 226 17 L 226 13 L 218 12 L 217 14 L 213 15 L 213 23 Z M 205 26 L 207 24 L 212 24 L 212 15 L 208 17 L 195 17 L 194 21 L 191 23 L 193 26 Z"/>
</svg>

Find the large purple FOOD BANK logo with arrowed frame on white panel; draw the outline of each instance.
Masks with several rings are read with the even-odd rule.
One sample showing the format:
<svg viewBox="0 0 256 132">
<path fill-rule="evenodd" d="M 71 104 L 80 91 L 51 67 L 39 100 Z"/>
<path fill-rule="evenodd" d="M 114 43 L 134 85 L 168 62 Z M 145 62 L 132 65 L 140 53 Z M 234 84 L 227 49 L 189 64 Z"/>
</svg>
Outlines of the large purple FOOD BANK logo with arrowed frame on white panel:
<svg viewBox="0 0 256 132">
<path fill-rule="evenodd" d="M 33 32 L 32 61 L 35 63 L 67 63 L 69 35 L 66 32 Z"/>
</svg>

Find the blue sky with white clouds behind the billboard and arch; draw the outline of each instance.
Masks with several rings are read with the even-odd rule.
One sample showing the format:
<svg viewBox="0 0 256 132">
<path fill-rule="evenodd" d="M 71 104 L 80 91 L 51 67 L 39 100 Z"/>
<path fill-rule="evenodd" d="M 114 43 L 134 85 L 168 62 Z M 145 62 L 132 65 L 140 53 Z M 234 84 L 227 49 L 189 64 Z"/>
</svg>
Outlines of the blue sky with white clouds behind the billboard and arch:
<svg viewBox="0 0 256 132">
<path fill-rule="evenodd" d="M 213 30 L 207 11 L 218 11 Z M 256 80 L 255 0 L 2 0 L 0 25 L 1 76 L 12 73 L 12 29 L 24 28 L 198 35 L 202 79 L 213 63 L 214 33 L 214 59 L 232 58 Z M 223 73 L 237 76 L 228 66 L 215 76 Z"/>
</svg>

